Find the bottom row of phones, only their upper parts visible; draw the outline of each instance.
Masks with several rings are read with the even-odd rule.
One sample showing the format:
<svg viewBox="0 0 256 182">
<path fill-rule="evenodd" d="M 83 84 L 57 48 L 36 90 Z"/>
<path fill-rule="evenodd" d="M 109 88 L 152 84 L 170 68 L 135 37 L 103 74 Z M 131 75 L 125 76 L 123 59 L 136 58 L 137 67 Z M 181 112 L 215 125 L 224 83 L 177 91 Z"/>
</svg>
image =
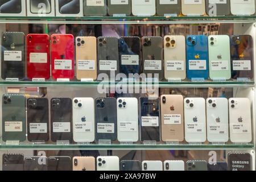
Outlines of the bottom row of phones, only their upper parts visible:
<svg viewBox="0 0 256 182">
<path fill-rule="evenodd" d="M 251 171 L 251 155 L 248 153 L 229 152 L 226 162 L 205 160 L 122 160 L 118 156 L 27 156 L 23 154 L 3 154 L 3 171 L 233 171 L 239 169 Z M 73 162 L 72 162 L 73 161 Z M 233 161 L 243 161 L 241 167 L 235 167 Z M 245 163 L 246 162 L 246 163 Z"/>
</svg>

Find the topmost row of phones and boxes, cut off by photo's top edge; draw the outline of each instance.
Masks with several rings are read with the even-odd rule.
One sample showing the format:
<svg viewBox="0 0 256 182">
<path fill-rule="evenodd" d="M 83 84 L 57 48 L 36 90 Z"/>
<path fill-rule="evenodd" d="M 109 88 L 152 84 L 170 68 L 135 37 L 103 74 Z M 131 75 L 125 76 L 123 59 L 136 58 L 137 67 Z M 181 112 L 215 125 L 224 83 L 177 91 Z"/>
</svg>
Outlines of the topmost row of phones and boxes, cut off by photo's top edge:
<svg viewBox="0 0 256 182">
<path fill-rule="evenodd" d="M 22 0 L 1 1 L 0 15 L 19 14 L 22 11 Z M 44 14 L 54 11 L 55 1 L 27 0 L 27 14 L 36 15 L 42 13 L 44 3 Z M 41 10 L 41 11 L 40 11 Z M 24 11 L 24 10 L 23 10 Z M 255 1 L 214 1 L 214 0 L 72 0 L 56 1 L 56 16 L 78 15 L 78 16 L 167 16 L 167 15 L 252 15 L 255 13 Z M 55 16 L 55 14 L 53 14 Z"/>
</svg>

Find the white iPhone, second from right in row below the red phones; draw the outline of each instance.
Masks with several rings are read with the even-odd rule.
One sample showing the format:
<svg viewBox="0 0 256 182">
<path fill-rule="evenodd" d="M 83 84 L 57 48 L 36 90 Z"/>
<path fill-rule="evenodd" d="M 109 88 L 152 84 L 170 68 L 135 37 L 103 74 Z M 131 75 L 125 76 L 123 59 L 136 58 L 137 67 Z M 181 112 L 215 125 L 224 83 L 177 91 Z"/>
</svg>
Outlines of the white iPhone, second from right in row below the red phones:
<svg viewBox="0 0 256 182">
<path fill-rule="evenodd" d="M 207 98 L 207 139 L 209 142 L 228 142 L 229 106 L 226 98 Z"/>
</svg>

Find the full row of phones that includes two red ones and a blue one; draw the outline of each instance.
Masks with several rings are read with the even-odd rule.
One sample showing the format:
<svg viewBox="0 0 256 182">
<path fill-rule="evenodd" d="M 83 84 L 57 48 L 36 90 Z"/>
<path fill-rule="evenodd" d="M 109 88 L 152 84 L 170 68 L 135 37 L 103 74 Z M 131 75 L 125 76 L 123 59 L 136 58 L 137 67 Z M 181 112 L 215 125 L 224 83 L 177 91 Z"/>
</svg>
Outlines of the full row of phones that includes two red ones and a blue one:
<svg viewBox="0 0 256 182">
<path fill-rule="evenodd" d="M 53 34 L 51 46 L 49 42 L 47 34 L 27 35 L 28 79 L 48 80 L 51 75 L 53 80 L 73 80 L 76 75 L 77 80 L 96 80 L 101 73 L 111 78 L 112 72 L 127 77 L 135 73 L 158 74 L 159 80 L 254 77 L 250 35 L 168 35 L 164 40 L 149 36 L 142 41 L 139 37 L 79 36 L 76 49 L 70 34 Z M 24 34 L 3 32 L 2 78 L 22 79 L 25 67 Z"/>
</svg>

